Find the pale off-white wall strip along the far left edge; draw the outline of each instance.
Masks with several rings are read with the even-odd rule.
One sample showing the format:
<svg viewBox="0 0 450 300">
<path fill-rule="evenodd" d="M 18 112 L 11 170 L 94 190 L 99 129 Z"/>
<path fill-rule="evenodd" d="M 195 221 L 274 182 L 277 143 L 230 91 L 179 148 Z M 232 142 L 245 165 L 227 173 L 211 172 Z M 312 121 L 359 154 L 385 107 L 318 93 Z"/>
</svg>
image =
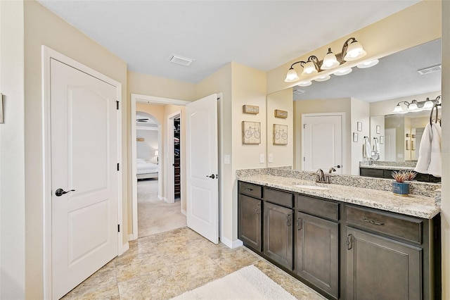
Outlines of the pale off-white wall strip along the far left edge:
<svg viewBox="0 0 450 300">
<path fill-rule="evenodd" d="M 25 298 L 23 30 L 23 2 L 0 1 L 0 299 Z"/>
</svg>

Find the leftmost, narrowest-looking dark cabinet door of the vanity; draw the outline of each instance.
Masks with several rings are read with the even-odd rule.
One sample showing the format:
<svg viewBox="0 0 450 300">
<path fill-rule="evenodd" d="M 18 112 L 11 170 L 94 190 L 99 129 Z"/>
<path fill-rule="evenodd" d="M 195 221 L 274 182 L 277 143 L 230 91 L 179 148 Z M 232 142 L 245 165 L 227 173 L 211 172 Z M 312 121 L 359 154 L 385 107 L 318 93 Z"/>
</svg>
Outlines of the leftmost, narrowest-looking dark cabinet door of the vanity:
<svg viewBox="0 0 450 300">
<path fill-rule="evenodd" d="M 250 248 L 261 251 L 261 200 L 239 195 L 238 235 Z"/>
</svg>

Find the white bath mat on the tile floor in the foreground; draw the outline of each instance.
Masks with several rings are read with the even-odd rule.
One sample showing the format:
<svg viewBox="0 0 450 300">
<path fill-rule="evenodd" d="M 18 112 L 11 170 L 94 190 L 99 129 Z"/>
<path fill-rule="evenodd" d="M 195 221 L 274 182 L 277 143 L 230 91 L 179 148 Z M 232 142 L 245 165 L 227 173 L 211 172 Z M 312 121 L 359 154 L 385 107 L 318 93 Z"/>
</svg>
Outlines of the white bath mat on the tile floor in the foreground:
<svg viewBox="0 0 450 300">
<path fill-rule="evenodd" d="M 179 296 L 181 299 L 296 299 L 255 265 L 237 270 Z"/>
</svg>

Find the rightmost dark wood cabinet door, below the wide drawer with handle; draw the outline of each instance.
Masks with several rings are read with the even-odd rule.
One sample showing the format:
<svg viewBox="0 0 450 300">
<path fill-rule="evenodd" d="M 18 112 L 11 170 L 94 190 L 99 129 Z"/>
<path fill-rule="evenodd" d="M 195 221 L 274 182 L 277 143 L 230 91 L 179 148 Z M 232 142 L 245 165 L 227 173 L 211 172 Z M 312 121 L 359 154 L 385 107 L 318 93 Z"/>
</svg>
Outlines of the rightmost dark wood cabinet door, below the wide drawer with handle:
<svg viewBox="0 0 450 300">
<path fill-rule="evenodd" d="M 347 227 L 347 299 L 422 299 L 422 249 Z"/>
</svg>

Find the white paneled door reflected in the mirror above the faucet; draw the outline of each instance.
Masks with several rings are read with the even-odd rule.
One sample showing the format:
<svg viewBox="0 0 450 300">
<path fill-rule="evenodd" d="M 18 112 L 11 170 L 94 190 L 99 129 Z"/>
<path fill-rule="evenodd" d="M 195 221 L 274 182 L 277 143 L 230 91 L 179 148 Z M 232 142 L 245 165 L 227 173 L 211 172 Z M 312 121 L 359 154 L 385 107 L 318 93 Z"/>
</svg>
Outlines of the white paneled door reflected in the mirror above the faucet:
<svg viewBox="0 0 450 300">
<path fill-rule="evenodd" d="M 328 172 L 342 166 L 342 115 L 303 115 L 302 170 Z M 342 173 L 343 168 L 336 168 Z"/>
</svg>

